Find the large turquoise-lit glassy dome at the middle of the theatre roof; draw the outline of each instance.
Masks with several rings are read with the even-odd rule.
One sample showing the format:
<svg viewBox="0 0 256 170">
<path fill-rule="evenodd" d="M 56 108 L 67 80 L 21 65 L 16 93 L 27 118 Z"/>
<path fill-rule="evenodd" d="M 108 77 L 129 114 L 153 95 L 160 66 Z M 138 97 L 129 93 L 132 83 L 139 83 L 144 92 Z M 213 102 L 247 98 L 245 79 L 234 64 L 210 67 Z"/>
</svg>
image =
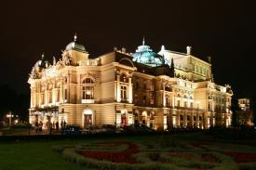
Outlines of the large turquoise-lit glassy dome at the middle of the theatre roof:
<svg viewBox="0 0 256 170">
<path fill-rule="evenodd" d="M 145 41 L 143 39 L 142 46 L 138 46 L 135 53 L 132 54 L 133 60 L 140 62 L 145 65 L 152 67 L 161 66 L 164 64 L 164 59 L 162 56 L 156 54 L 150 46 L 145 46 Z"/>
</svg>

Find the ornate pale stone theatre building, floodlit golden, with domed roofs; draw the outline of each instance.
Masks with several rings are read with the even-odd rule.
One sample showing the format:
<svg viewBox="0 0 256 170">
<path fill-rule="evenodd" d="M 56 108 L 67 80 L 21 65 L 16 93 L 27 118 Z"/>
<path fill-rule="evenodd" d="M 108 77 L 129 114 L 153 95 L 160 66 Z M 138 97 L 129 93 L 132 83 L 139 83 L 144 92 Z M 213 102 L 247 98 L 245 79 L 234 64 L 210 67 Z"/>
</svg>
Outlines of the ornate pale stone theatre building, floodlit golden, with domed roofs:
<svg viewBox="0 0 256 170">
<path fill-rule="evenodd" d="M 232 90 L 212 81 L 211 64 L 187 53 L 157 54 L 144 40 L 135 53 L 114 49 L 89 59 L 66 46 L 58 61 L 44 56 L 30 74 L 30 123 L 145 124 L 155 129 L 231 124 Z"/>
</svg>

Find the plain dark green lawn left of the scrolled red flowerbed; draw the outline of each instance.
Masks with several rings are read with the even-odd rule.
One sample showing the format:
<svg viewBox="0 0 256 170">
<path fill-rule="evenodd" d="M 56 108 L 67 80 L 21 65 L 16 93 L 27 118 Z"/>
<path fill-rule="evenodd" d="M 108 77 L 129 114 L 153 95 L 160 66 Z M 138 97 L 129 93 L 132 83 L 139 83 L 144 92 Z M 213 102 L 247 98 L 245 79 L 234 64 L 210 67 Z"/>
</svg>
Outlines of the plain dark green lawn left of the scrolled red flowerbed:
<svg viewBox="0 0 256 170">
<path fill-rule="evenodd" d="M 78 164 L 65 161 L 58 152 L 51 150 L 53 145 L 76 143 L 76 141 L 41 141 L 0 144 L 1 170 L 70 170 L 85 169 Z"/>
</svg>

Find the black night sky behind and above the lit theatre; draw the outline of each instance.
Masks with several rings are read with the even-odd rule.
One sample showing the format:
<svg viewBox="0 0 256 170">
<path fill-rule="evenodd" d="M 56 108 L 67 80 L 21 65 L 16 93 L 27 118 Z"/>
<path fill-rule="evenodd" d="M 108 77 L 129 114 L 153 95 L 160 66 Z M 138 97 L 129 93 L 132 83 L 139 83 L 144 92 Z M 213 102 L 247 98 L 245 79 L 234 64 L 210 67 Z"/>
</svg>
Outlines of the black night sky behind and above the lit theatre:
<svg viewBox="0 0 256 170">
<path fill-rule="evenodd" d="M 28 74 L 44 52 L 61 57 L 77 33 L 92 57 L 146 44 L 212 57 L 215 82 L 239 97 L 255 93 L 256 14 L 252 1 L 5 1 L 0 10 L 0 84 L 29 93 Z"/>
</svg>

